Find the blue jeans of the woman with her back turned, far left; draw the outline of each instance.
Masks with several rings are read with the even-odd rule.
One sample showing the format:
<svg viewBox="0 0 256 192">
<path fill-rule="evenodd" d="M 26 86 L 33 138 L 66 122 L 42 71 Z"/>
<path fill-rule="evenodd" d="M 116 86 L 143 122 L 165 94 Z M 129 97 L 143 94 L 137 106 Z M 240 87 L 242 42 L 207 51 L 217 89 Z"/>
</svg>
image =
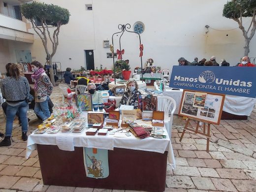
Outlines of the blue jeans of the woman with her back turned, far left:
<svg viewBox="0 0 256 192">
<path fill-rule="evenodd" d="M 15 104 L 13 103 L 13 105 Z M 22 132 L 28 131 L 28 118 L 27 118 L 28 108 L 29 108 L 29 103 L 27 101 L 23 101 L 16 106 L 11 106 L 9 104 L 7 105 L 5 136 L 11 136 L 12 124 L 17 112 L 19 112 L 20 114 Z"/>
</svg>

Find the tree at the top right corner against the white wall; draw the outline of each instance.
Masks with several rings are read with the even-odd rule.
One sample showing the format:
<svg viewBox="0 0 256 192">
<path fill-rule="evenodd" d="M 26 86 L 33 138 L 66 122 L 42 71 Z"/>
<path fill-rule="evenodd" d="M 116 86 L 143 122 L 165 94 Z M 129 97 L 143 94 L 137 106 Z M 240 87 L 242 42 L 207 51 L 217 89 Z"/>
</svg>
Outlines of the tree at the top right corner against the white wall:
<svg viewBox="0 0 256 192">
<path fill-rule="evenodd" d="M 256 31 L 256 0 L 231 0 L 224 5 L 223 16 L 238 23 L 239 29 L 245 37 L 245 56 L 250 52 L 250 41 Z M 243 26 L 243 17 L 252 17 L 251 24 L 246 30 Z M 252 29 L 251 29 L 252 28 Z M 251 32 L 249 33 L 251 29 Z"/>
</svg>

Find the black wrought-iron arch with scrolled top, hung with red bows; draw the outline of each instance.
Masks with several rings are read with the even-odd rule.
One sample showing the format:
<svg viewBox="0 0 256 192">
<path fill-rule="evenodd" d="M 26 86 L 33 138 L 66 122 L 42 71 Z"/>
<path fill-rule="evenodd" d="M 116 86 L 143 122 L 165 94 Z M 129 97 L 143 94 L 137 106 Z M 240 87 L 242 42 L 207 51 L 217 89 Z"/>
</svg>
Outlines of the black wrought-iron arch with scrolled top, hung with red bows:
<svg viewBox="0 0 256 192">
<path fill-rule="evenodd" d="M 118 29 L 120 30 L 120 32 L 115 32 L 113 35 L 112 35 L 112 45 L 113 45 L 113 50 L 114 50 L 114 41 L 113 41 L 113 37 L 115 34 L 118 34 L 118 33 L 122 33 L 119 37 L 119 49 L 120 51 L 122 50 L 121 49 L 121 37 L 123 36 L 124 32 L 132 32 L 132 31 L 129 31 L 128 29 L 130 29 L 130 24 L 126 24 L 126 25 L 121 25 L 119 24 L 118 25 Z M 136 33 L 139 35 L 139 46 L 141 45 L 141 39 L 140 39 L 140 34 L 138 32 L 132 32 L 132 33 Z M 121 54 L 121 61 L 122 61 L 122 54 Z M 142 78 L 142 81 L 143 81 L 143 73 L 142 73 L 142 56 L 140 57 L 140 62 L 141 62 L 141 78 Z M 113 66 L 114 66 L 114 78 L 115 78 L 115 84 L 116 84 L 116 71 L 115 71 L 115 58 L 114 58 L 114 55 L 113 55 Z"/>
</svg>

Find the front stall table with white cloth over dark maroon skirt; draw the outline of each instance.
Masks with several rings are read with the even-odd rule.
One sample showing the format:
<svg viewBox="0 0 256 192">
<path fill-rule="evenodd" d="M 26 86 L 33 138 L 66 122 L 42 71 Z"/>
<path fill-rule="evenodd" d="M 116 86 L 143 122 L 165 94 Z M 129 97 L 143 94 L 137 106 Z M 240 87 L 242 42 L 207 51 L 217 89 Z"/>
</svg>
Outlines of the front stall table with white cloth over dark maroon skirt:
<svg viewBox="0 0 256 192">
<path fill-rule="evenodd" d="M 29 135 L 26 157 L 28 158 L 37 146 L 44 185 L 152 192 L 165 190 L 167 158 L 175 167 L 168 134 L 163 139 L 138 139 L 133 135 L 126 138 L 109 134 L 89 136 L 85 131 Z M 75 150 L 60 150 L 56 142 L 58 135 L 72 137 Z M 86 176 L 83 147 L 108 150 L 107 178 L 95 179 Z"/>
</svg>

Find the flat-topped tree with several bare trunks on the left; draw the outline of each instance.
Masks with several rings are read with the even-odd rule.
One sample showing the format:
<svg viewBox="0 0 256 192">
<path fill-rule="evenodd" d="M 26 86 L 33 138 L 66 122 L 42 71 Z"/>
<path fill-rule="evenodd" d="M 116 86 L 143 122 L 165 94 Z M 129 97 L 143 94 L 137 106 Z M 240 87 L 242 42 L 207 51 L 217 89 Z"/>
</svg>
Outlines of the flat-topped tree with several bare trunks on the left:
<svg viewBox="0 0 256 192">
<path fill-rule="evenodd" d="M 70 13 L 68 9 L 62 8 L 54 4 L 32 2 L 22 4 L 21 12 L 24 15 L 24 17 L 32 23 L 34 31 L 42 40 L 44 50 L 46 52 L 46 62 L 50 66 L 52 66 L 52 59 L 59 45 L 60 28 L 62 25 L 66 25 L 69 21 Z M 36 20 L 38 22 L 36 22 Z M 56 28 L 52 35 L 49 30 L 50 27 Z M 51 53 L 47 47 L 48 38 L 52 43 Z M 52 67 L 50 67 L 50 75 L 51 82 L 55 86 Z"/>
</svg>

